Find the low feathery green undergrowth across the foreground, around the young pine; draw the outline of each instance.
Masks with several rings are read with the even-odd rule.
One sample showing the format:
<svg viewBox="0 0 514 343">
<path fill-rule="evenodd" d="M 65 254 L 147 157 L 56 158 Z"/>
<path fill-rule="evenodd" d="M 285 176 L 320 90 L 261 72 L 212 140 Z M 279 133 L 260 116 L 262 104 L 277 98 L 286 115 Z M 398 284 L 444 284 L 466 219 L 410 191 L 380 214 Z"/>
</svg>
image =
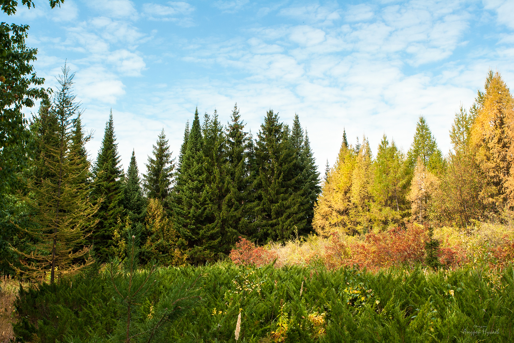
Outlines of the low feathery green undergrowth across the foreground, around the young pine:
<svg viewBox="0 0 514 343">
<path fill-rule="evenodd" d="M 272 263 L 158 268 L 137 311 L 150 318 L 177 280 L 201 279 L 201 300 L 154 341 L 475 342 L 514 340 L 514 270 L 282 266 Z M 113 340 L 120 308 L 109 279 L 77 276 L 23 290 L 19 341 Z M 138 341 L 136 338 L 134 342 Z"/>
</svg>

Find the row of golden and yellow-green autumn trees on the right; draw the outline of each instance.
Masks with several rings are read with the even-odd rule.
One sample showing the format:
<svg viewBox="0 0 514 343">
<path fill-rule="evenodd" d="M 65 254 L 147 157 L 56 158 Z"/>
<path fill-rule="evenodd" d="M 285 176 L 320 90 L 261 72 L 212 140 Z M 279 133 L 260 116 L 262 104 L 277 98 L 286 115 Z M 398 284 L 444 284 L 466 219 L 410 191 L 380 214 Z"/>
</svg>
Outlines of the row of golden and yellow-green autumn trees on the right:
<svg viewBox="0 0 514 343">
<path fill-rule="evenodd" d="M 489 73 L 467 111 L 450 130 L 453 150 L 437 148 L 419 117 L 412 146 L 403 153 L 384 134 L 376 157 L 368 140 L 349 145 L 325 172 L 313 226 L 347 234 L 416 221 L 462 228 L 478 221 L 508 222 L 514 209 L 514 102 L 501 75 Z"/>
</svg>

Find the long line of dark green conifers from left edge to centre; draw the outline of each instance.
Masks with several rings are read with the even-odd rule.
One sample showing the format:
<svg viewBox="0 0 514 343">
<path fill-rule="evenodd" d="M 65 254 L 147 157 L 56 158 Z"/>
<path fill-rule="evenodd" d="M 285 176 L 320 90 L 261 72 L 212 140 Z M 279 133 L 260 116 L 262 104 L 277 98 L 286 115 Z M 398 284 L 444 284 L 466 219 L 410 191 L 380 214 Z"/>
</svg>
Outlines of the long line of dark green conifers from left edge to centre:
<svg viewBox="0 0 514 343">
<path fill-rule="evenodd" d="M 290 129 L 269 110 L 253 139 L 237 105 L 227 125 L 216 111 L 200 123 L 196 110 L 178 158 L 162 131 L 141 178 L 134 151 L 122 170 L 112 113 L 88 160 L 74 74 L 62 71 L 26 128 L 4 270 L 53 281 L 56 271 L 123 258 L 132 235 L 143 262 L 197 265 L 227 257 L 240 237 L 263 244 L 314 232 L 320 180 L 298 115 Z"/>
</svg>

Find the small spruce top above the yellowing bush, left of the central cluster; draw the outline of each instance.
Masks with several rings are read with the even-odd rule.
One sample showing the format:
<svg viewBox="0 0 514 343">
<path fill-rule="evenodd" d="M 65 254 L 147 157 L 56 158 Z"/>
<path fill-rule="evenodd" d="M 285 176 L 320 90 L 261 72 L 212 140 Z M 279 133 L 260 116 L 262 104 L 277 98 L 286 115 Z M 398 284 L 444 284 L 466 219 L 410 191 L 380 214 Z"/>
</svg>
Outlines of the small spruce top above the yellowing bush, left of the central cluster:
<svg viewBox="0 0 514 343">
<path fill-rule="evenodd" d="M 175 167 L 173 163 L 175 159 L 171 158 L 172 153 L 164 129 L 159 134 L 156 146 L 153 146 L 153 148 L 152 153 L 155 158 L 148 157 L 146 174 L 143 174 L 143 185 L 147 197 L 164 201 L 170 191 Z"/>
</svg>

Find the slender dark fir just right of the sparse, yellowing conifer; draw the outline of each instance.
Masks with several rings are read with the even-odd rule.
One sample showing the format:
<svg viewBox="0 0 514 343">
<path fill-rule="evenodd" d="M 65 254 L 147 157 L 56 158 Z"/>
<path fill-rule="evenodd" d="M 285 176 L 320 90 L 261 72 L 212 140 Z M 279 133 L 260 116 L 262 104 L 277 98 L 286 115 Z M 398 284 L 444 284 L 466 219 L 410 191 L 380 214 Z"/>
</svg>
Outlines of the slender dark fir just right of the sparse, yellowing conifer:
<svg viewBox="0 0 514 343">
<path fill-rule="evenodd" d="M 113 111 L 105 124 L 102 145 L 93 167 L 95 182 L 91 192 L 100 202 L 98 224 L 93 233 L 95 250 L 100 261 L 106 261 L 113 246 L 113 233 L 123 218 L 123 171 L 121 170 L 118 143 L 114 133 Z"/>
</svg>

